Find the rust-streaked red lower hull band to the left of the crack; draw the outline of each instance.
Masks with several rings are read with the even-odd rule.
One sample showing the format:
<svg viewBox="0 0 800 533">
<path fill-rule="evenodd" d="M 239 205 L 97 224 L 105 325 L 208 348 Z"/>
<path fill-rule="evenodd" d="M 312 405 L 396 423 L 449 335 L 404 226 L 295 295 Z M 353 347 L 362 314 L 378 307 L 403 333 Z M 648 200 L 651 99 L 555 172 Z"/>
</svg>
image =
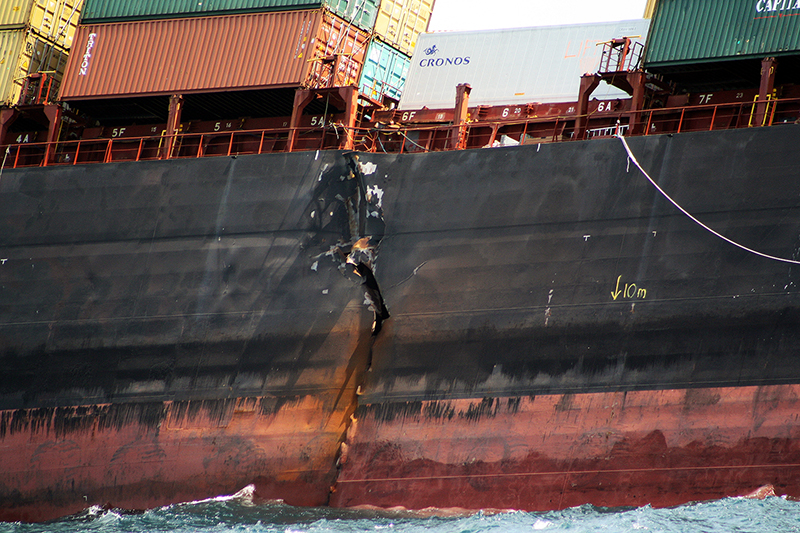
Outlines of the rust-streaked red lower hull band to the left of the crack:
<svg viewBox="0 0 800 533">
<path fill-rule="evenodd" d="M 349 413 L 311 397 L 272 412 L 272 400 L 4 411 L 0 519 L 48 520 L 88 505 L 147 509 L 250 483 L 258 497 L 326 504 Z"/>
</svg>

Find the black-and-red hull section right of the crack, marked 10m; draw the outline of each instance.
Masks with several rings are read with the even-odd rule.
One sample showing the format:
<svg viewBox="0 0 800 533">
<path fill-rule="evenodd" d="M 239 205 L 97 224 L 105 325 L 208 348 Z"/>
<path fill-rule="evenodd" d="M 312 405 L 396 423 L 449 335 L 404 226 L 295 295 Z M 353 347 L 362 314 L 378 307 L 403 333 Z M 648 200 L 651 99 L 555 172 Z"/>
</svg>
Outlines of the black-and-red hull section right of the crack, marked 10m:
<svg viewBox="0 0 800 533">
<path fill-rule="evenodd" d="M 705 224 L 800 250 L 800 128 L 628 140 Z M 372 156 L 369 156 L 372 157 Z M 618 139 L 375 159 L 392 313 L 333 502 L 800 496 L 798 267 Z"/>
</svg>

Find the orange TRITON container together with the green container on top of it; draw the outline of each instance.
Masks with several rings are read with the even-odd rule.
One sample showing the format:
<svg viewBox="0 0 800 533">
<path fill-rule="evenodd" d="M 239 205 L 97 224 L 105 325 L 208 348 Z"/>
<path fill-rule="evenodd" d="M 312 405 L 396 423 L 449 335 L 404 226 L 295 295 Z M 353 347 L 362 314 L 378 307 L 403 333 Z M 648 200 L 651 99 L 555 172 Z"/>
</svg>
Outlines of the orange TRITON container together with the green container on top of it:
<svg viewBox="0 0 800 533">
<path fill-rule="evenodd" d="M 88 0 L 63 97 L 354 84 L 377 1 Z"/>
</svg>

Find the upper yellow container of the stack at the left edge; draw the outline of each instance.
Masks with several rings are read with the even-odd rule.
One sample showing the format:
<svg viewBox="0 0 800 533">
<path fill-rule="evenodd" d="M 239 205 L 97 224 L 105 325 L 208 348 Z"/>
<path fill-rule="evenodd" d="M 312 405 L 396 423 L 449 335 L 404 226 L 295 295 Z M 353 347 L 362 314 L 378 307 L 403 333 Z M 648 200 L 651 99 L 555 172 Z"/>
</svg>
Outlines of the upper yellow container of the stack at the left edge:
<svg viewBox="0 0 800 533">
<path fill-rule="evenodd" d="M 0 30 L 30 28 L 41 37 L 69 49 L 83 0 L 3 0 Z"/>
</svg>

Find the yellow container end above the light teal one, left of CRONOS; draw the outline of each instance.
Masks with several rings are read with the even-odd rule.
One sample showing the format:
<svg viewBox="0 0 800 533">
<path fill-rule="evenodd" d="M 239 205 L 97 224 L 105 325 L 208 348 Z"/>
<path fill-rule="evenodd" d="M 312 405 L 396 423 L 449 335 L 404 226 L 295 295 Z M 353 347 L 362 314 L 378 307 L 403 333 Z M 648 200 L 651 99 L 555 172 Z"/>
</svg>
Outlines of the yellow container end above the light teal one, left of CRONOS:
<svg viewBox="0 0 800 533">
<path fill-rule="evenodd" d="M 417 38 L 428 31 L 435 0 L 382 0 L 375 33 L 386 43 L 411 55 Z"/>
</svg>

